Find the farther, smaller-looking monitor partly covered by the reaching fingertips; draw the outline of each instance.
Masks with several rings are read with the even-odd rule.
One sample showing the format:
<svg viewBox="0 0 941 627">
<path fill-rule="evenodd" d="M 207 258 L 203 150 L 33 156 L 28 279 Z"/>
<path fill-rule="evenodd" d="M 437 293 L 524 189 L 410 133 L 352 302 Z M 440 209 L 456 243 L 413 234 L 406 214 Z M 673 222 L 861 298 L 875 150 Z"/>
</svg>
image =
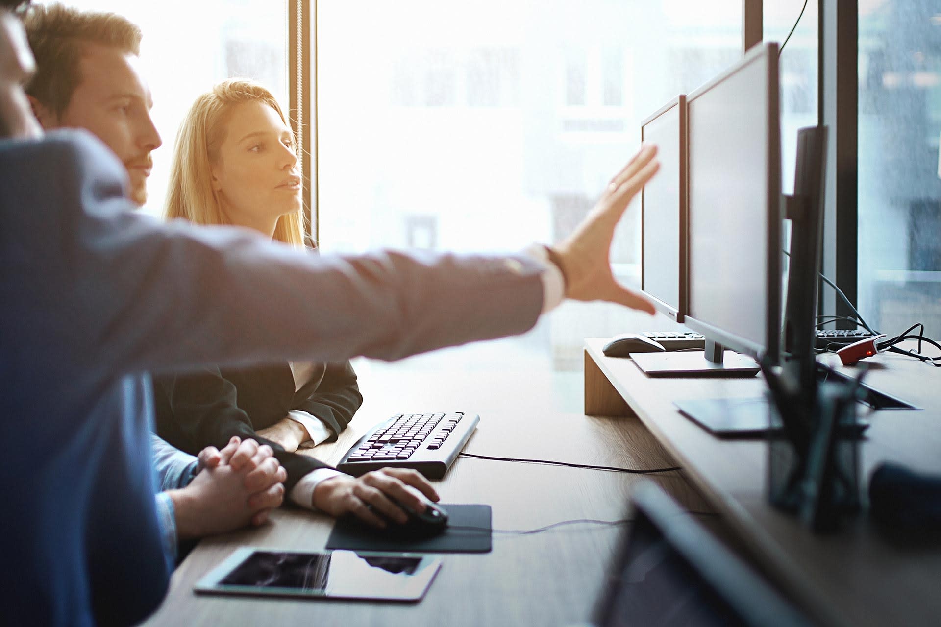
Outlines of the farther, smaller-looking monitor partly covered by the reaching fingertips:
<svg viewBox="0 0 941 627">
<path fill-rule="evenodd" d="M 660 172 L 641 191 L 641 290 L 678 322 L 686 313 L 686 96 L 641 122 Z"/>
</svg>

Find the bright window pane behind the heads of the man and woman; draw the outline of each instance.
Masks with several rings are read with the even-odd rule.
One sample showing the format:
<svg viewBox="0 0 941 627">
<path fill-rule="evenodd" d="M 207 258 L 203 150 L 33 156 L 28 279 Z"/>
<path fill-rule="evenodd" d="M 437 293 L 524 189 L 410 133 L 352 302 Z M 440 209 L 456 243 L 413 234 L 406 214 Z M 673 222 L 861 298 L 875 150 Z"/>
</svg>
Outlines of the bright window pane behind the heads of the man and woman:
<svg viewBox="0 0 941 627">
<path fill-rule="evenodd" d="M 177 129 L 199 94 L 226 78 L 251 78 L 271 89 L 288 110 L 284 2 L 69 0 L 67 4 L 113 11 L 143 30 L 140 60 L 153 94 L 153 122 L 164 140 L 163 147 L 153 152 L 145 212 L 163 212 Z"/>
</svg>

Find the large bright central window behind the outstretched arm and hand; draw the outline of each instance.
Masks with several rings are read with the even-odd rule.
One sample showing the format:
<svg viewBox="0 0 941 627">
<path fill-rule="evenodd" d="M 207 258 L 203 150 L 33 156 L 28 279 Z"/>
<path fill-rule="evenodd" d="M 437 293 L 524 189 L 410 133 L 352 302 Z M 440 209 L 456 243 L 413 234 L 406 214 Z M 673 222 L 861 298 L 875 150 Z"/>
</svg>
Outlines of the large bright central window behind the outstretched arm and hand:
<svg viewBox="0 0 941 627">
<path fill-rule="evenodd" d="M 638 148 L 640 121 L 742 54 L 742 0 L 315 6 L 327 252 L 557 241 Z M 619 227 L 613 259 L 635 286 L 638 217 Z M 623 307 L 566 303 L 505 340 L 501 359 L 578 369 L 583 337 L 673 328 L 633 320 Z"/>
</svg>

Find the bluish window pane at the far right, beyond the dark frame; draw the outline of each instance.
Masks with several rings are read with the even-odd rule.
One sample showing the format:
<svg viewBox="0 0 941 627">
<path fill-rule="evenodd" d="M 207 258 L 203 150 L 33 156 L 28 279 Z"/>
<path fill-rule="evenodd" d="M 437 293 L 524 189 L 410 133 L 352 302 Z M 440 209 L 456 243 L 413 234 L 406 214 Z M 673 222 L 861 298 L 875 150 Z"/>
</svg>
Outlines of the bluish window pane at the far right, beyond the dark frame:
<svg viewBox="0 0 941 627">
<path fill-rule="evenodd" d="M 859 2 L 859 306 L 941 333 L 941 7 Z"/>
</svg>

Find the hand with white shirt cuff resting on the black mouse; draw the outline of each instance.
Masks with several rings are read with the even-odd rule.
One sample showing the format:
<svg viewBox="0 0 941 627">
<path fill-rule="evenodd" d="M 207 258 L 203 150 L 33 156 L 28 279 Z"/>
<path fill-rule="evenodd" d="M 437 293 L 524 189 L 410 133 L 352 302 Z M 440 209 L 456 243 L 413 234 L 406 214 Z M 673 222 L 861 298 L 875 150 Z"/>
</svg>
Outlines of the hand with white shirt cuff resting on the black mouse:
<svg viewBox="0 0 941 627">
<path fill-rule="evenodd" d="M 385 528 L 386 522 L 376 512 L 396 523 L 408 520 L 406 512 L 393 504 L 389 496 L 415 511 L 424 511 L 422 499 L 412 494 L 407 485 L 418 489 L 432 501 L 438 501 L 438 493 L 418 472 L 383 468 L 359 478 L 338 475 L 324 479 L 313 491 L 313 507 L 332 516 L 351 512 L 370 525 Z"/>
</svg>

